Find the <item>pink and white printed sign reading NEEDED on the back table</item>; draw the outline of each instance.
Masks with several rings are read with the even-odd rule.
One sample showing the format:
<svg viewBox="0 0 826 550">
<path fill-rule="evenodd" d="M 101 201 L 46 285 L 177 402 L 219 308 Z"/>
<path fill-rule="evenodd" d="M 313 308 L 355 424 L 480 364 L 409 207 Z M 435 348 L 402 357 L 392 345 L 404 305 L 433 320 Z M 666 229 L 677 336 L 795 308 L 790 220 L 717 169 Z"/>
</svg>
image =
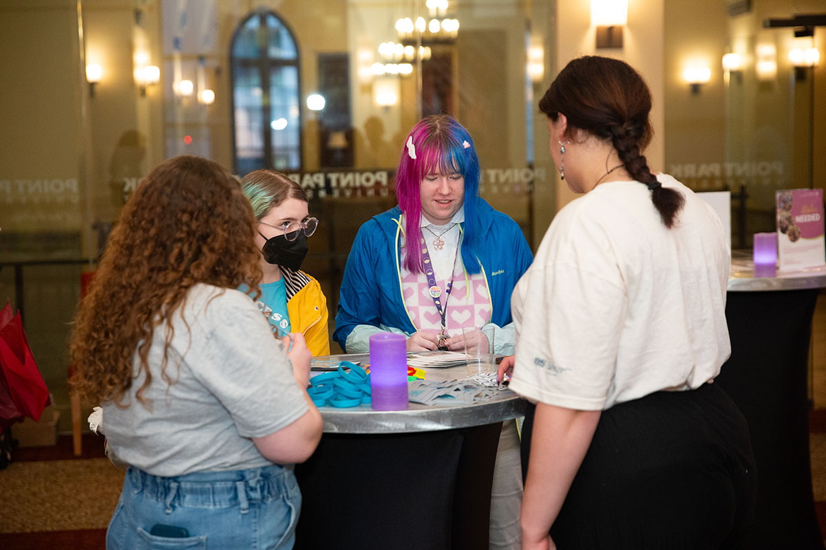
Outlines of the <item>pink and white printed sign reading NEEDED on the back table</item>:
<svg viewBox="0 0 826 550">
<path fill-rule="evenodd" d="M 776 191 L 777 260 L 781 271 L 826 265 L 824 191 Z"/>
</svg>

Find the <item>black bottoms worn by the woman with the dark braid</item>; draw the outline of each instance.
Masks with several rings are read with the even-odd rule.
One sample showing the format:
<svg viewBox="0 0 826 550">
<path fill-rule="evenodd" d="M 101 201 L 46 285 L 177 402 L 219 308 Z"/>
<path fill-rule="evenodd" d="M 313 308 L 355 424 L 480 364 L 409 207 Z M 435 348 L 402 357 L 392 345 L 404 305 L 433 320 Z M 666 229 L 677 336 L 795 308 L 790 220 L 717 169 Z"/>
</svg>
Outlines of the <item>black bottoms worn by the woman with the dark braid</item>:
<svg viewBox="0 0 826 550">
<path fill-rule="evenodd" d="M 560 550 L 739 548 L 756 497 L 748 425 L 723 389 L 658 392 L 603 411 L 551 536 Z"/>
</svg>

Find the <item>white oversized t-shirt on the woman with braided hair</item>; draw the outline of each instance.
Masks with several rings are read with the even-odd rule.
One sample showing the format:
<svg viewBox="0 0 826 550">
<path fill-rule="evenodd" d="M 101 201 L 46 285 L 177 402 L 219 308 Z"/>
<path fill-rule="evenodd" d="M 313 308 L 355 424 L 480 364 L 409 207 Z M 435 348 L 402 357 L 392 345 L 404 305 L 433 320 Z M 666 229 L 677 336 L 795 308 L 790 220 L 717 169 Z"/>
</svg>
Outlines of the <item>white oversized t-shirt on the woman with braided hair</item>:
<svg viewBox="0 0 826 550">
<path fill-rule="evenodd" d="M 704 200 L 658 180 L 686 199 L 671 229 L 638 181 L 596 186 L 553 219 L 511 299 L 516 393 L 596 411 L 719 374 L 729 243 Z"/>
</svg>

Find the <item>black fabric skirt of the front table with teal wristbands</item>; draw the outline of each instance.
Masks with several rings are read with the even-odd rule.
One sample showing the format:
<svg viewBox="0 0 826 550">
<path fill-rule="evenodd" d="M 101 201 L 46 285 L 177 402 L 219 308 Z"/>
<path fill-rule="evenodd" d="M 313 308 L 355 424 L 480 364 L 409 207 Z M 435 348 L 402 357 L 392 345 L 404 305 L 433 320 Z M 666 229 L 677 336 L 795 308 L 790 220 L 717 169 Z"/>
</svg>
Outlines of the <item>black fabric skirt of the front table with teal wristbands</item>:
<svg viewBox="0 0 826 550">
<path fill-rule="evenodd" d="M 413 434 L 325 434 L 296 466 L 297 550 L 488 547 L 501 423 Z"/>
</svg>

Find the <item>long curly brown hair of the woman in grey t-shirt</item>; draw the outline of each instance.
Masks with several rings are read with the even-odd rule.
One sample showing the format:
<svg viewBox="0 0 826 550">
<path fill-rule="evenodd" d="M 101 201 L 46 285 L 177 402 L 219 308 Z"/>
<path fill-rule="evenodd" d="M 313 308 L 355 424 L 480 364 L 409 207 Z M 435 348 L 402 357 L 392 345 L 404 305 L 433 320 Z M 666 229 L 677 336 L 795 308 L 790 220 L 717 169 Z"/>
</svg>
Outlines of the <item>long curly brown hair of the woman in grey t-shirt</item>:
<svg viewBox="0 0 826 550">
<path fill-rule="evenodd" d="M 235 176 L 200 157 L 174 157 L 155 167 L 124 206 L 88 294 L 75 317 L 69 353 L 74 388 L 90 402 L 120 404 L 141 371 L 152 383 L 147 356 L 164 322 L 164 360 L 173 338 L 169 320 L 188 290 L 206 283 L 259 293 L 260 252 L 255 218 Z M 140 365 L 135 371 L 135 349 Z"/>
</svg>

